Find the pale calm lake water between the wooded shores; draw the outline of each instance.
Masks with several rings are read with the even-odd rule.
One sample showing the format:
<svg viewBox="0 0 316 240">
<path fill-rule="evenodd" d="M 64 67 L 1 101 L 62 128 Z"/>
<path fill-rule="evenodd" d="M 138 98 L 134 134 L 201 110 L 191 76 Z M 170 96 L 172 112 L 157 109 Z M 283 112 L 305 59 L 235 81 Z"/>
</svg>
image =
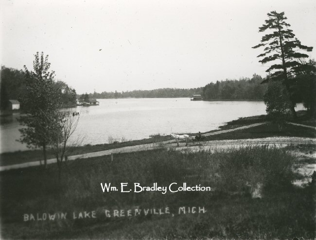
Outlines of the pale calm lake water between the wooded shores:
<svg viewBox="0 0 316 240">
<path fill-rule="evenodd" d="M 80 120 L 75 132 L 83 144 L 147 138 L 152 134 L 196 133 L 218 129 L 230 120 L 265 114 L 263 102 L 190 101 L 189 98 L 100 99 L 98 106 L 77 106 Z M 302 104 L 298 110 L 304 109 Z M 18 114 L 2 118 L 0 152 L 25 150 L 16 141 Z M 74 136 L 76 138 L 76 136 Z"/>
</svg>

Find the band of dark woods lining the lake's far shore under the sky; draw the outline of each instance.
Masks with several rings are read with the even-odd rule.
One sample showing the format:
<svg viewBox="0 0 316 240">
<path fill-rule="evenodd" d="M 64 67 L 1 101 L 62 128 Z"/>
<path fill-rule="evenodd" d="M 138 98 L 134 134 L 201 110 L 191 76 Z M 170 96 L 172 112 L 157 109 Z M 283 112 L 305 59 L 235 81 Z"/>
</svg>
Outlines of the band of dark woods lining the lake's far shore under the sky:
<svg viewBox="0 0 316 240">
<path fill-rule="evenodd" d="M 263 100 L 266 89 L 261 85 L 263 78 L 254 74 L 250 78 L 239 80 L 226 79 L 196 88 L 158 88 L 153 90 L 133 90 L 122 92 L 76 94 L 76 90 L 59 80 L 54 82 L 60 89 L 64 106 L 75 105 L 76 99 L 111 99 L 111 98 L 189 98 L 192 94 L 200 94 L 205 100 Z M 22 70 L 1 67 L 1 109 L 7 106 L 9 99 L 20 100 L 25 91 L 25 80 Z M 21 106 L 23 108 L 23 106 Z"/>
</svg>

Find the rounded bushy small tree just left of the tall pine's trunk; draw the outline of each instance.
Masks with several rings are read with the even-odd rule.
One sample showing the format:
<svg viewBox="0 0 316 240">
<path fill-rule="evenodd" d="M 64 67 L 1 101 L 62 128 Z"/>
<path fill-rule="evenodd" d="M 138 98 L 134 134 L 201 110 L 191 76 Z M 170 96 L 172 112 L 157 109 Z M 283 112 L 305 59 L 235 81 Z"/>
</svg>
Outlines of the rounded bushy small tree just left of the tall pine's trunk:
<svg viewBox="0 0 316 240">
<path fill-rule="evenodd" d="M 285 121 L 291 117 L 291 101 L 288 92 L 280 82 L 270 81 L 263 100 L 268 117 L 278 124 L 281 131 Z"/>
</svg>

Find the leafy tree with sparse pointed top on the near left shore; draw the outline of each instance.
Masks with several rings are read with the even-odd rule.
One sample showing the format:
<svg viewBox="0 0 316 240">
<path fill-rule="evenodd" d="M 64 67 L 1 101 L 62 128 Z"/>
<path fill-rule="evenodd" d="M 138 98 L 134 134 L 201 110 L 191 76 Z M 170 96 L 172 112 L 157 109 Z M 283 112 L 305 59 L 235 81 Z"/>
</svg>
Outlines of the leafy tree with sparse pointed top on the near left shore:
<svg viewBox="0 0 316 240">
<path fill-rule="evenodd" d="M 52 141 L 52 131 L 58 125 L 58 108 L 62 101 L 60 91 L 54 86 L 54 71 L 49 71 L 48 55 L 44 59 L 43 52 L 41 55 L 36 52 L 33 69 L 29 71 L 24 66 L 26 92 L 20 101 L 26 115 L 18 119 L 25 126 L 19 129 L 19 141 L 28 147 L 42 147 L 46 168 L 46 148 Z"/>
</svg>

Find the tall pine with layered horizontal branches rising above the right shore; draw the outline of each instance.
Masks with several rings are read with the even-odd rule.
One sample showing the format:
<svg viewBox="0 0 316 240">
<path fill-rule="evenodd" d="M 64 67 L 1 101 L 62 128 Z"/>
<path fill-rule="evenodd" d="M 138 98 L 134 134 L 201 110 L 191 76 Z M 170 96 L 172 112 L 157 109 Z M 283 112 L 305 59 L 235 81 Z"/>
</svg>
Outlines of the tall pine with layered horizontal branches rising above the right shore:
<svg viewBox="0 0 316 240">
<path fill-rule="evenodd" d="M 300 50 L 312 51 L 313 47 L 302 45 L 295 37 L 293 31 L 288 28 L 290 24 L 285 22 L 287 17 L 284 17 L 284 12 L 277 13 L 276 11 L 272 11 L 267 15 L 269 18 L 265 20 L 265 24 L 259 28 L 259 32 L 272 30 L 272 33 L 265 34 L 261 39 L 261 43 L 253 48 L 264 47 L 263 53 L 258 55 L 258 57 L 263 57 L 259 61 L 262 64 L 277 61 L 277 63 L 274 62 L 274 64 L 266 70 L 266 72 L 270 73 L 267 81 L 282 81 L 290 96 L 291 112 L 296 118 L 294 108 L 296 102 L 293 96 L 296 89 L 293 89 L 291 79 L 294 79 L 297 70 L 302 65 L 298 59 L 308 57 L 307 54 L 300 52 Z"/>
</svg>

